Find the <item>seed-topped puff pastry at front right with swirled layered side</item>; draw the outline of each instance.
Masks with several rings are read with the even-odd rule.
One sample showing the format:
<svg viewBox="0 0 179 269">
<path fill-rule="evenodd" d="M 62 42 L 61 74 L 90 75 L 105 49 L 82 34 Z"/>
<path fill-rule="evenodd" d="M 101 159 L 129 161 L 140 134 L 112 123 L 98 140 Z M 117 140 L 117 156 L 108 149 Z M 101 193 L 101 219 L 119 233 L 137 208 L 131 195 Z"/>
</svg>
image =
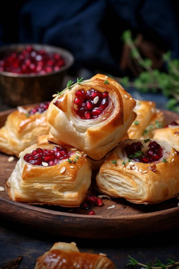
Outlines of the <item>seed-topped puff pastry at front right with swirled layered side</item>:
<svg viewBox="0 0 179 269">
<path fill-rule="evenodd" d="M 136 145 L 142 145 L 141 151 L 135 151 Z M 133 147 L 136 155 L 127 154 L 128 147 Z M 158 152 L 154 153 L 155 150 Z M 178 154 L 166 142 L 126 140 L 101 166 L 97 186 L 101 193 L 138 204 L 156 204 L 176 197 L 179 194 Z"/>
</svg>

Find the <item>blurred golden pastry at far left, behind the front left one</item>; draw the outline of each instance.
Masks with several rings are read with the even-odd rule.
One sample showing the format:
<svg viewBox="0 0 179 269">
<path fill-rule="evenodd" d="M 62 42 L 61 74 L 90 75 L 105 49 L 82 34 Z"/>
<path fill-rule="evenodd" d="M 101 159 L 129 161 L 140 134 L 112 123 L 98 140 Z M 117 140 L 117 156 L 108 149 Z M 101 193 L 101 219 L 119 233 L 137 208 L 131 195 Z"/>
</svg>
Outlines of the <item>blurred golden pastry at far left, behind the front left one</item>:
<svg viewBox="0 0 179 269">
<path fill-rule="evenodd" d="M 37 142 L 40 135 L 47 135 L 47 108 L 50 102 L 39 106 L 18 107 L 6 120 L 0 129 L 0 151 L 16 155 L 25 148 Z M 39 112 L 41 111 L 41 112 Z"/>
</svg>

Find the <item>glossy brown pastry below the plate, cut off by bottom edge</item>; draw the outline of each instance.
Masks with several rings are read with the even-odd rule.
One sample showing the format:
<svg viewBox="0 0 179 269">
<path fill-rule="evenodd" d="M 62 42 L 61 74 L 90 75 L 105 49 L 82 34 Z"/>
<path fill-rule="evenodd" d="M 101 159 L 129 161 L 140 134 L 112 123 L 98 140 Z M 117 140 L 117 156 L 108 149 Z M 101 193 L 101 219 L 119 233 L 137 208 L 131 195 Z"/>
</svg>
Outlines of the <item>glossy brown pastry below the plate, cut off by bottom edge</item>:
<svg viewBox="0 0 179 269">
<path fill-rule="evenodd" d="M 58 242 L 37 259 L 34 269 L 116 269 L 105 254 L 79 252 L 74 242 Z"/>
</svg>

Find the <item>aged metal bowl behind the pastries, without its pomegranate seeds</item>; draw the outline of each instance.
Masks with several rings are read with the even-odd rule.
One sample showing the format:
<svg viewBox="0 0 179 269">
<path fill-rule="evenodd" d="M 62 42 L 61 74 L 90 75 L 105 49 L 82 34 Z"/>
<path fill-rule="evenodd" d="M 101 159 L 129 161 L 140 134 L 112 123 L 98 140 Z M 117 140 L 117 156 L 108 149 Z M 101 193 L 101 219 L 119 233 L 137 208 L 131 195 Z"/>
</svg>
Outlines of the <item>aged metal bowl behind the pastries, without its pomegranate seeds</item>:
<svg viewBox="0 0 179 269">
<path fill-rule="evenodd" d="M 2 102 L 10 106 L 39 103 L 52 99 L 52 94 L 61 90 L 63 77 L 74 62 L 73 55 L 65 50 L 51 45 L 43 44 L 13 44 L 0 48 L 0 58 L 6 52 L 20 52 L 27 45 L 47 53 L 59 53 L 65 60 L 65 65 L 59 71 L 46 74 L 14 74 L 0 72 L 0 96 Z"/>
</svg>

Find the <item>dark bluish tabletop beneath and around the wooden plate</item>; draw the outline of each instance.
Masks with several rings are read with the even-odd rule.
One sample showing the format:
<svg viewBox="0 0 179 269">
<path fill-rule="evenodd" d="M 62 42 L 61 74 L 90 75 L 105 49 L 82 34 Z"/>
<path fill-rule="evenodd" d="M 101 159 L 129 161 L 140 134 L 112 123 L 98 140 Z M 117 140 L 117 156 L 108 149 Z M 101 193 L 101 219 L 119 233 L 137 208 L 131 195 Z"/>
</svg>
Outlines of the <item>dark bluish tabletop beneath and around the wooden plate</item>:
<svg viewBox="0 0 179 269">
<path fill-rule="evenodd" d="M 160 94 L 152 96 L 150 94 L 141 95 L 134 90 L 131 90 L 130 93 L 136 99 L 151 99 L 152 101 L 157 101 L 159 108 L 165 107 L 166 99 Z M 0 101 L 0 111 L 8 108 Z M 158 225 L 162 226 L 162 223 L 158 223 Z M 100 229 L 100 227 L 96 228 Z M 27 230 L 26 227 L 22 229 L 12 226 L 10 223 L 3 223 L 0 219 L 0 267 L 12 259 L 23 256 L 24 258 L 19 268 L 34 268 L 36 258 L 45 251 L 48 251 L 58 241 L 74 241 L 77 243 L 80 251 L 106 253 L 114 261 L 118 269 L 126 267 L 128 255 L 143 263 L 150 260 L 154 261 L 155 258 L 161 259 L 162 262 L 166 263 L 167 257 L 179 261 L 178 229 L 137 238 L 84 240 L 40 234 L 39 232 Z"/>
</svg>

